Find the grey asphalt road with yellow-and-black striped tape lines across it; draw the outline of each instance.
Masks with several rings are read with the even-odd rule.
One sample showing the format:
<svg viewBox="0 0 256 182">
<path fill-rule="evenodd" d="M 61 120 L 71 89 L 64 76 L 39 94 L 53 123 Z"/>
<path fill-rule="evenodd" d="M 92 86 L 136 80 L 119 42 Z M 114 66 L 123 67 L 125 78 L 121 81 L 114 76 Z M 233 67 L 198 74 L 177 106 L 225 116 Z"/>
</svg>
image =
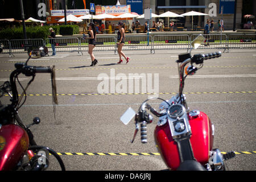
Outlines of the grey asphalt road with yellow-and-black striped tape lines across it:
<svg viewBox="0 0 256 182">
<path fill-rule="evenodd" d="M 213 51 L 198 49 L 192 54 Z M 56 106 L 55 119 L 52 97 L 49 96 L 50 76 L 38 74 L 27 90 L 26 103 L 19 110 L 20 117 L 27 125 L 34 117 L 41 119 L 39 125 L 31 127 L 36 142 L 65 153 L 61 158 L 67 170 L 167 169 L 160 155 L 157 155 L 154 142 L 157 118 L 147 127 L 147 144 L 141 143 L 139 135 L 134 143 L 130 143 L 135 130 L 134 122 L 123 125 L 119 118 L 128 107 L 138 110 L 148 98 L 148 94 L 142 94 L 144 91 L 159 93 L 159 97 L 165 100 L 178 92 L 175 60 L 184 51 L 164 50 L 155 51 L 155 54 L 150 54 L 150 51 L 124 52 L 131 58 L 128 64 L 125 60 L 123 64 L 116 64 L 118 55 L 114 52 L 94 52 L 99 62 L 95 67 L 89 67 L 87 52 L 83 56 L 78 56 L 76 52 L 57 52 L 56 56 L 29 62 L 30 65 L 56 65 L 59 105 Z M 0 84 L 9 78 L 14 63 L 26 58 L 25 54 L 15 54 L 11 58 L 1 54 Z M 131 73 L 134 77 L 130 80 L 139 81 L 141 85 L 143 76 L 146 77 L 149 81 L 146 90 L 142 90 L 141 86 L 136 90 L 135 85 L 127 80 L 126 85 L 121 82 Z M 100 80 L 99 77 L 105 79 Z M 19 78 L 23 86 L 30 80 L 23 75 Z M 148 85 L 150 81 L 152 86 Z M 228 160 L 229 170 L 255 171 L 256 50 L 232 49 L 229 53 L 222 53 L 220 58 L 205 61 L 203 68 L 187 78 L 184 92 L 188 106 L 207 113 L 214 123 L 214 148 L 219 148 L 221 152 L 240 153 Z M 3 96 L 1 100 L 7 103 L 9 98 Z M 150 103 L 157 109 L 160 101 Z M 72 155 L 72 152 L 77 154 Z M 134 154 L 127 155 L 129 153 Z M 52 156 L 48 169 L 60 169 Z"/>
</svg>

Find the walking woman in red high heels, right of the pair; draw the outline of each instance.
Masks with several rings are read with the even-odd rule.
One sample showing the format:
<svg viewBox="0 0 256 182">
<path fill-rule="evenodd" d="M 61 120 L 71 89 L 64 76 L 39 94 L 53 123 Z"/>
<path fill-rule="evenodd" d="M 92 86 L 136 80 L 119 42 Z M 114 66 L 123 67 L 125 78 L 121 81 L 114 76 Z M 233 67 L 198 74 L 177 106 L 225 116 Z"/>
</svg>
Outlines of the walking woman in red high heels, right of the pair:
<svg viewBox="0 0 256 182">
<path fill-rule="evenodd" d="M 122 56 L 125 57 L 126 64 L 129 62 L 130 58 L 126 57 L 125 54 L 122 52 L 123 45 L 125 45 L 125 29 L 123 28 L 123 23 L 119 22 L 118 24 L 119 31 L 117 32 L 117 51 L 119 55 L 119 62 L 117 64 L 120 64 L 123 62 Z"/>
</svg>

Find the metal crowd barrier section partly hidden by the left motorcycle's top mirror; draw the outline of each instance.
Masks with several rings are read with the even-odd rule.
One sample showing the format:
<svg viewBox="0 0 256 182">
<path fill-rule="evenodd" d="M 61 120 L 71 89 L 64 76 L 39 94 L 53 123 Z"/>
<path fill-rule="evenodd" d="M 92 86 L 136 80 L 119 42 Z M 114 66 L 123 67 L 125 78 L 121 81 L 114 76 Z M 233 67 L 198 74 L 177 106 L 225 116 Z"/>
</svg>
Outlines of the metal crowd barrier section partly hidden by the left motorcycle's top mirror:
<svg viewBox="0 0 256 182">
<path fill-rule="evenodd" d="M 10 55 L 13 53 L 27 53 L 28 50 L 44 46 L 43 39 L 14 39 L 10 40 Z"/>
</svg>

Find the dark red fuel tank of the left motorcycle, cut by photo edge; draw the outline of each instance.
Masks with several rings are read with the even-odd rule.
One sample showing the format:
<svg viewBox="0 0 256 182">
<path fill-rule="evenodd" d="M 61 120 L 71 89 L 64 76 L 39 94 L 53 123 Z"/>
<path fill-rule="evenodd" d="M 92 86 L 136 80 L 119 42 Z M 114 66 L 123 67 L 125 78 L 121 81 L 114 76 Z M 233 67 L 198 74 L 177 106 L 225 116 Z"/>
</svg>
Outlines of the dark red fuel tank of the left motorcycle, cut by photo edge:
<svg viewBox="0 0 256 182">
<path fill-rule="evenodd" d="M 12 170 L 28 149 L 28 135 L 22 127 L 4 125 L 0 129 L 0 171 Z"/>
</svg>

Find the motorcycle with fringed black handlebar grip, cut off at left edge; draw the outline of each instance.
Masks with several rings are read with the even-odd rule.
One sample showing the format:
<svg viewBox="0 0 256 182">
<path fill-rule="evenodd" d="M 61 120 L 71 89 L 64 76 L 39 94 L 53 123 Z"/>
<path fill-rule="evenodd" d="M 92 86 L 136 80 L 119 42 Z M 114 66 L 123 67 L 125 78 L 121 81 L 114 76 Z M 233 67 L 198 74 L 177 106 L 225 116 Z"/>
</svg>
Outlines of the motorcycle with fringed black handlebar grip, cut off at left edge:
<svg viewBox="0 0 256 182">
<path fill-rule="evenodd" d="M 0 171 L 41 171 L 49 166 L 49 153 L 51 153 L 60 164 L 61 170 L 65 171 L 65 166 L 60 156 L 51 148 L 38 146 L 30 130 L 32 125 L 40 123 L 40 119 L 35 117 L 33 123 L 25 126 L 19 117 L 18 110 L 26 101 L 26 90 L 34 81 L 36 73 L 51 73 L 53 106 L 57 104 L 55 66 L 34 67 L 27 65 L 31 57 L 40 57 L 40 51 L 31 51 L 26 63 L 16 63 L 15 70 L 10 75 L 10 82 L 6 81 L 0 86 L 0 97 L 9 94 L 11 104 L 2 105 L 0 102 Z M 20 74 L 32 77 L 26 88 L 20 84 L 18 76 Z M 18 94 L 16 81 L 19 82 L 23 90 Z M 22 101 L 23 96 L 25 97 Z M 55 108 L 55 107 L 54 107 Z"/>
</svg>

